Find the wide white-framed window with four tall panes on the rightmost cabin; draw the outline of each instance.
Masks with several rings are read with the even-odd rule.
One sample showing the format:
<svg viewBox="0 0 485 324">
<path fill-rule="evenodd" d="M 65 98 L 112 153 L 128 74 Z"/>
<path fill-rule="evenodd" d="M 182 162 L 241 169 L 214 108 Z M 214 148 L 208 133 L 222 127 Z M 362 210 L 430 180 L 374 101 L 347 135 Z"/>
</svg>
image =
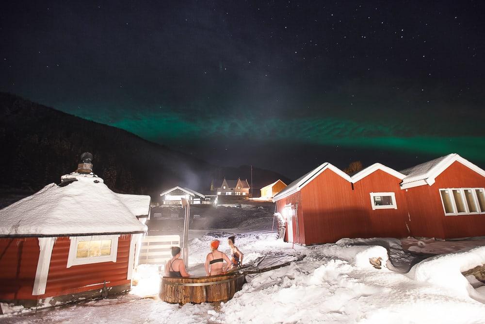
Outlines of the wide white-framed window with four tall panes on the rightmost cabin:
<svg viewBox="0 0 485 324">
<path fill-rule="evenodd" d="M 485 214 L 484 188 L 439 189 L 445 216 Z"/>
</svg>

